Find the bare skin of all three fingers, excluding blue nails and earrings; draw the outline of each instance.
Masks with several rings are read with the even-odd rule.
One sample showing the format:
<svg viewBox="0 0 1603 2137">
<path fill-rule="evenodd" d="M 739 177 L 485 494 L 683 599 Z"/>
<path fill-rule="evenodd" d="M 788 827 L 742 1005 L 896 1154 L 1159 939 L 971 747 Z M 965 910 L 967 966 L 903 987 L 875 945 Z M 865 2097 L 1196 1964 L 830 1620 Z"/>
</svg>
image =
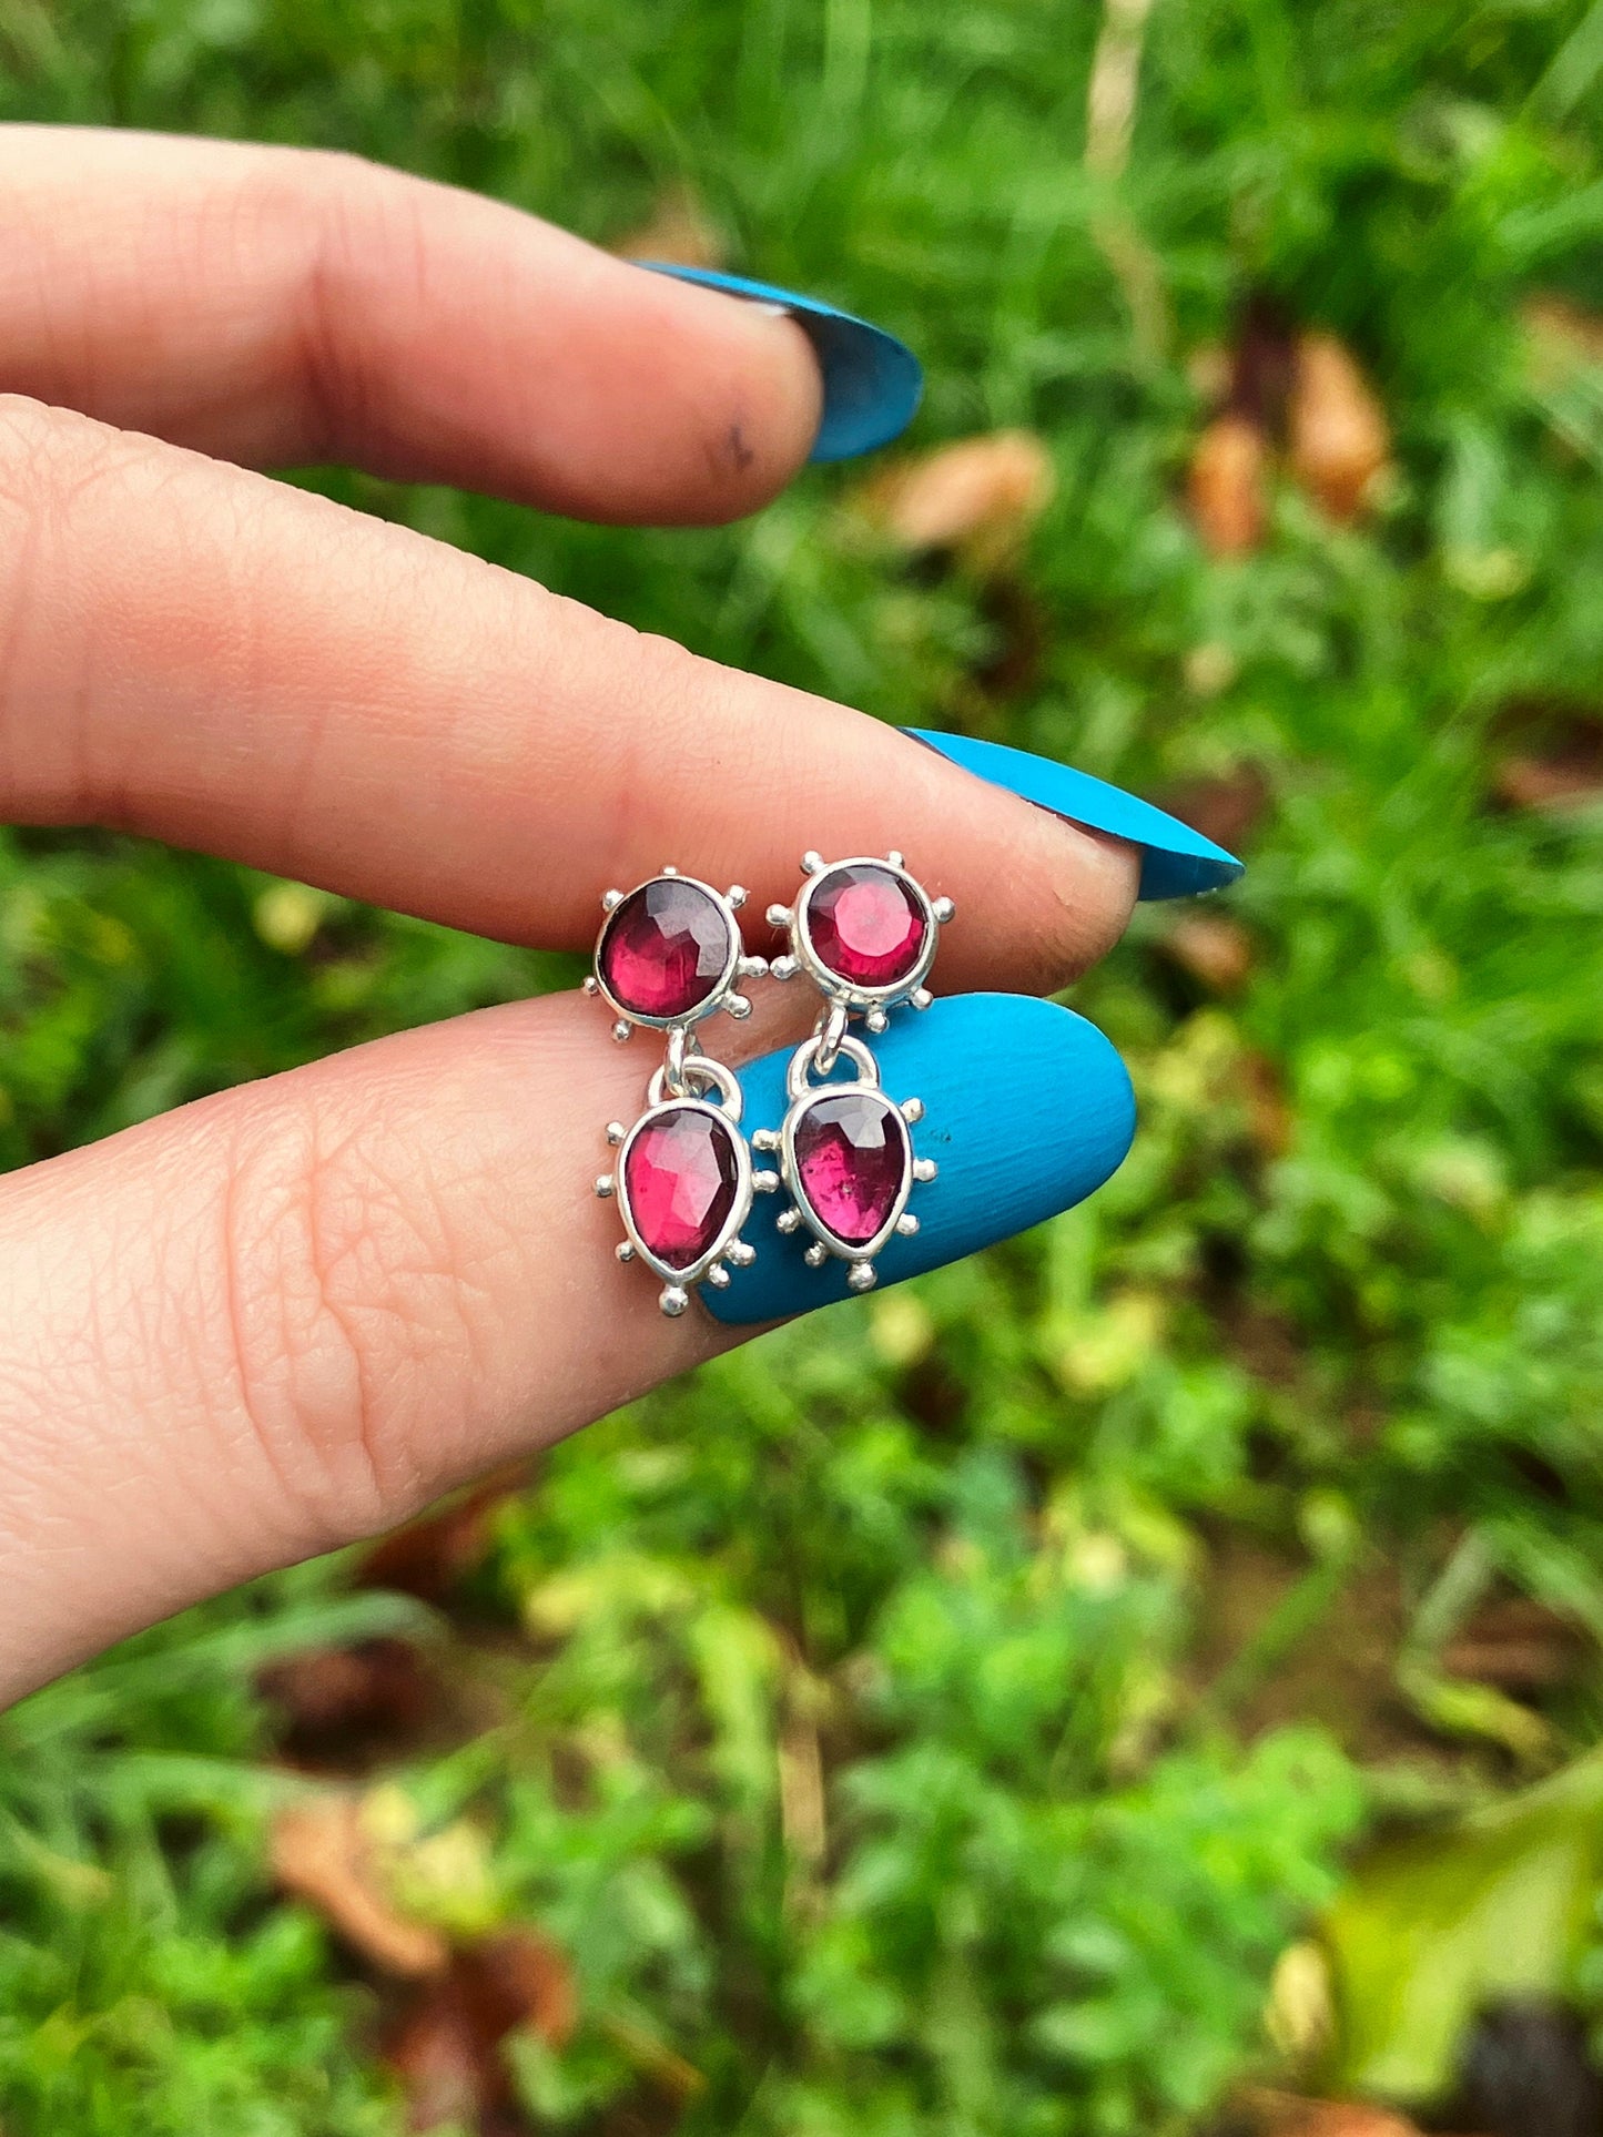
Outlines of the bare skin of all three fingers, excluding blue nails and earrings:
<svg viewBox="0 0 1603 2137">
<path fill-rule="evenodd" d="M 0 383 L 13 823 L 554 947 L 667 859 L 761 915 L 806 846 L 896 844 L 964 915 L 949 989 L 1056 987 L 1129 917 L 1131 848 L 246 466 L 733 517 L 816 427 L 784 318 L 344 158 L 6 128 Z M 663 1321 L 588 1192 L 648 1066 L 517 1004 L 0 1182 L 0 1695 L 737 1340 Z"/>
</svg>

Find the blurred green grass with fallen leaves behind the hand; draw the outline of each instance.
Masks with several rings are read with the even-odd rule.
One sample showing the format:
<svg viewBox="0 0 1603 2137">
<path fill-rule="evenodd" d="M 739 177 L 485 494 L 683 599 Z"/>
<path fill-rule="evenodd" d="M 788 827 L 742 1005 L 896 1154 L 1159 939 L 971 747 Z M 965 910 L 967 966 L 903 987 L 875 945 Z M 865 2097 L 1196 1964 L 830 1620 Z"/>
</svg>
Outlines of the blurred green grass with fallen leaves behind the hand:
<svg viewBox="0 0 1603 2137">
<path fill-rule="evenodd" d="M 0 0 L 0 83 L 893 327 L 962 481 L 314 481 L 1250 861 L 1075 989 L 1088 1207 L 0 1720 L 6 2137 L 1597 2131 L 1603 6 Z M 566 981 L 9 836 L 0 1152 Z"/>
</svg>

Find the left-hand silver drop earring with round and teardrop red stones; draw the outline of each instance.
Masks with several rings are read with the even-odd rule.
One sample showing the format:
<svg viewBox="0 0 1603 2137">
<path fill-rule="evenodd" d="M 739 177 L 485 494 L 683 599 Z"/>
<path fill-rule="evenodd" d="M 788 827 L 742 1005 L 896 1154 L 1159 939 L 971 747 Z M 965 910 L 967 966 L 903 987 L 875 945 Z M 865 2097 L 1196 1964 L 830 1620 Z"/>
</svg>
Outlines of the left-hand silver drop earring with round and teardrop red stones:
<svg viewBox="0 0 1603 2137">
<path fill-rule="evenodd" d="M 752 1004 L 737 985 L 767 970 L 763 957 L 746 955 L 735 919 L 744 902 L 742 889 L 720 895 L 673 868 L 626 895 L 607 891 L 586 981 L 618 1017 L 613 1039 L 628 1039 L 635 1026 L 667 1034 L 645 1111 L 633 1128 L 607 1124 L 618 1163 L 596 1180 L 596 1195 L 618 1201 L 618 1259 L 645 1263 L 669 1316 L 684 1312 L 697 1284 L 722 1289 L 731 1269 L 757 1259 L 740 1231 L 752 1197 L 780 1184 L 778 1173 L 752 1165 L 740 1133 L 740 1081 L 695 1036 L 720 1009 L 748 1017 Z"/>
</svg>

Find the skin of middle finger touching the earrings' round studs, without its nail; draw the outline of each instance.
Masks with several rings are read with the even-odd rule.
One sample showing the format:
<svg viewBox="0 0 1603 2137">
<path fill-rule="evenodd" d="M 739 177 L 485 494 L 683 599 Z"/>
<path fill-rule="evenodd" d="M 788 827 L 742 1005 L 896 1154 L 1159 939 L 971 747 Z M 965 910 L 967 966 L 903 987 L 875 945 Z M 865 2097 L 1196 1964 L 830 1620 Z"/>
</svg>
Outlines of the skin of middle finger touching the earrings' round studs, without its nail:
<svg viewBox="0 0 1603 2137">
<path fill-rule="evenodd" d="M 810 846 L 902 848 L 964 915 L 947 987 L 1054 987 L 1129 915 L 1131 846 L 239 468 L 9 402 L 0 515 L 13 821 L 137 829 L 569 947 L 594 940 L 603 889 L 665 861 L 761 912 Z"/>
</svg>

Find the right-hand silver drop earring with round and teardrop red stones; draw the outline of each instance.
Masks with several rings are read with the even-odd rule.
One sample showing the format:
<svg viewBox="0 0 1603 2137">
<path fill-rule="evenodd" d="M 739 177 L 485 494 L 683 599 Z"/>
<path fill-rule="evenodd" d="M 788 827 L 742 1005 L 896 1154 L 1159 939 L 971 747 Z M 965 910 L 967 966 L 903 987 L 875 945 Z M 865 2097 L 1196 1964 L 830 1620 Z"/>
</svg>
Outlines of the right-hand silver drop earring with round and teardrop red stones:
<svg viewBox="0 0 1603 2137">
<path fill-rule="evenodd" d="M 829 865 L 808 853 L 802 876 L 795 904 L 767 910 L 769 923 L 791 938 L 789 953 L 769 970 L 776 979 L 804 972 L 825 1007 L 812 1036 L 791 1056 L 784 1122 L 759 1128 L 752 1148 L 778 1152 L 791 1190 L 778 1225 L 812 1233 L 808 1265 L 844 1261 L 851 1289 L 870 1291 L 881 1248 L 919 1229 L 908 1197 L 919 1182 L 934 1180 L 936 1167 L 913 1154 L 908 1130 L 923 1118 L 921 1101 L 898 1105 L 881 1090 L 878 1062 L 851 1034 L 849 1019 L 859 1015 L 878 1034 L 900 1004 L 930 1007 L 923 981 L 953 904 L 930 898 L 900 853 Z M 829 1081 L 842 1056 L 855 1073 L 851 1081 Z"/>
</svg>

